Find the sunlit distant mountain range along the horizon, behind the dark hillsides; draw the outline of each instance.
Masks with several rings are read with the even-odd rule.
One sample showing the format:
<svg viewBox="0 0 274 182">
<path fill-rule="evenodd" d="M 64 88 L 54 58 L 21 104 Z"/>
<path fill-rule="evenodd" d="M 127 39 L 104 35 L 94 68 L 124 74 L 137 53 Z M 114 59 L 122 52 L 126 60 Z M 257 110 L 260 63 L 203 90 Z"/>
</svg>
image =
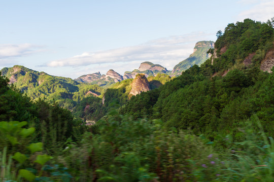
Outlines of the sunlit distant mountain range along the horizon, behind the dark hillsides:
<svg viewBox="0 0 274 182">
<path fill-rule="evenodd" d="M 140 80 L 141 78 L 145 80 L 144 77 L 148 79 L 145 81 L 148 88 L 154 89 L 159 87 L 170 79 L 169 76 L 180 75 L 182 71 L 194 64 L 199 65 L 203 63 L 209 57 L 207 51 L 213 48 L 213 44 L 213 41 L 197 42 L 194 47 L 194 53 L 191 54 L 188 59 L 176 65 L 173 71 L 169 71 L 158 64 L 143 62 L 138 69 L 126 71 L 123 76 L 113 69 L 110 69 L 106 75 L 101 75 L 100 72 L 97 72 L 82 75 L 75 80 L 66 77 L 52 76 L 45 72 L 31 70 L 19 65 L 15 65 L 12 68 L 5 67 L 1 72 L 2 75 L 10 79 L 10 83 L 13 83 L 33 100 L 45 97 L 48 100 L 71 99 L 77 102 L 87 94 L 102 97 L 102 94 L 105 93 L 105 88 L 110 88 L 114 83 L 122 80 L 135 78 L 136 75 L 140 75 Z M 132 93 L 140 93 L 138 90 L 143 90 L 139 82 L 140 81 L 136 82 L 139 88 L 136 92 L 132 91 Z"/>
</svg>

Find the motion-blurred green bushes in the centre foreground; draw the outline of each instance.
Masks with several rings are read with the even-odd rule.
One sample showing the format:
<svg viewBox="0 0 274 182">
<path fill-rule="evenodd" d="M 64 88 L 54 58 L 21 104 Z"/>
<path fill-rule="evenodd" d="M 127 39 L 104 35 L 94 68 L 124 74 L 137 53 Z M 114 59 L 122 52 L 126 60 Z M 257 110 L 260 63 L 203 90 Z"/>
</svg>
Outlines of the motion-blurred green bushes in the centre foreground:
<svg viewBox="0 0 274 182">
<path fill-rule="evenodd" d="M 96 125 L 99 133 L 86 133 L 81 147 L 72 148 L 67 157 L 82 181 L 87 175 L 98 181 L 195 180 L 186 159 L 206 158 L 211 152 L 197 136 L 165 130 L 159 120 L 132 120 L 112 111 Z"/>
</svg>

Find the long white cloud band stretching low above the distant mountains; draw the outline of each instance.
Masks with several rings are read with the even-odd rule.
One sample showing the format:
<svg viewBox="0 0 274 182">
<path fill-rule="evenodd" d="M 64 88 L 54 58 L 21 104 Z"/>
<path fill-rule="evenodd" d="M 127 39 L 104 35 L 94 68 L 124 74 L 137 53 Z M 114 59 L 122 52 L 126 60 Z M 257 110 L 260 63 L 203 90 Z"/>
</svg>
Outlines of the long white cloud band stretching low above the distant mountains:
<svg viewBox="0 0 274 182">
<path fill-rule="evenodd" d="M 207 40 L 206 38 L 208 36 L 208 34 L 203 32 L 194 32 L 182 36 L 159 38 L 131 47 L 99 51 L 95 53 L 85 52 L 71 58 L 51 61 L 47 66 L 79 67 L 97 64 L 109 64 L 111 66 L 111 64 L 113 65 L 114 63 L 125 65 L 132 62 L 139 62 L 140 64 L 144 61 L 150 61 L 154 64 L 161 64 L 167 69 L 173 69 L 176 64 L 186 59 L 193 52 L 194 45 L 197 41 Z M 123 65 L 119 66 L 121 67 Z M 113 68 L 109 67 L 109 69 Z"/>
</svg>

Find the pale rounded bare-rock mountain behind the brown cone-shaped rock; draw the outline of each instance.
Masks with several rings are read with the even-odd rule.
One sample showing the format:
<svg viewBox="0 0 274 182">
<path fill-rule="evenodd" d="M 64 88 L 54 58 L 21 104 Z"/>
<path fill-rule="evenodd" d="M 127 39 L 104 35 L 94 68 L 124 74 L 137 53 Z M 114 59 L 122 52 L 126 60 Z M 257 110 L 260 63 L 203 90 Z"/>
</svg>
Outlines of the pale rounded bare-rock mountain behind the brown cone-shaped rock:
<svg viewBox="0 0 274 182">
<path fill-rule="evenodd" d="M 165 73 L 168 74 L 170 71 L 166 70 L 163 66 L 159 64 L 153 64 L 151 62 L 143 62 L 139 66 L 139 69 L 134 69 L 133 71 L 126 71 L 124 73 L 123 78 L 129 79 L 129 78 L 135 78 L 137 74 L 143 73 L 146 77 L 149 76 L 156 76 L 158 73 Z"/>
</svg>

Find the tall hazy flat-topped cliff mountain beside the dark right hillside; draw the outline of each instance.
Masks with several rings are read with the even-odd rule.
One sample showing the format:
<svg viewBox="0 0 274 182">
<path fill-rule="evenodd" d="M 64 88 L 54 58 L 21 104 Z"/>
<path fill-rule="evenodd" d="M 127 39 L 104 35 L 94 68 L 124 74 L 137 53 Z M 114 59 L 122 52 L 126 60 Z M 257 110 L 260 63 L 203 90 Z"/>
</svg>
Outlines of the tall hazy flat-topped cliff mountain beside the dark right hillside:
<svg viewBox="0 0 274 182">
<path fill-rule="evenodd" d="M 214 48 L 214 41 L 198 41 L 195 44 L 193 53 L 184 61 L 177 64 L 170 75 L 180 75 L 182 71 L 187 70 L 193 65 L 201 65 L 205 60 L 207 60 L 211 55 L 207 54 L 210 48 Z"/>
</svg>

